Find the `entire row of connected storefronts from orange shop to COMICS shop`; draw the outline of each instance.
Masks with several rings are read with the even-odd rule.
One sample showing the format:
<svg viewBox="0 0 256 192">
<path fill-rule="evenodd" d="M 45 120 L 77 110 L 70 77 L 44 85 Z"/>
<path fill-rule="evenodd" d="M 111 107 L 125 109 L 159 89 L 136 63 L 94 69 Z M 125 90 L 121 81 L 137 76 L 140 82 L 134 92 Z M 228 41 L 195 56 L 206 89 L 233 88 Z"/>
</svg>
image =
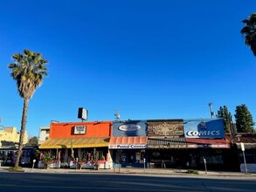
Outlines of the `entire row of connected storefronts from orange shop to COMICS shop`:
<svg viewBox="0 0 256 192">
<path fill-rule="evenodd" d="M 39 148 L 69 168 L 225 168 L 231 156 L 222 119 L 52 123 Z"/>
</svg>

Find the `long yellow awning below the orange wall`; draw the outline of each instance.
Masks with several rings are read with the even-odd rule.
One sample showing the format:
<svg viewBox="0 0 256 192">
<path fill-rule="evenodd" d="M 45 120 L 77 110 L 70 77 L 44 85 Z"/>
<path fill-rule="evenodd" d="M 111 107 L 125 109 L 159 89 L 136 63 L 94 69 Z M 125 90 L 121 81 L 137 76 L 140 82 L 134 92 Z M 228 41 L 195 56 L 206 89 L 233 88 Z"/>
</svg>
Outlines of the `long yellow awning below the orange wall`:
<svg viewBox="0 0 256 192">
<path fill-rule="evenodd" d="M 82 147 L 107 147 L 109 137 L 84 137 L 84 138 L 50 138 L 42 143 L 39 148 L 82 148 Z"/>
</svg>

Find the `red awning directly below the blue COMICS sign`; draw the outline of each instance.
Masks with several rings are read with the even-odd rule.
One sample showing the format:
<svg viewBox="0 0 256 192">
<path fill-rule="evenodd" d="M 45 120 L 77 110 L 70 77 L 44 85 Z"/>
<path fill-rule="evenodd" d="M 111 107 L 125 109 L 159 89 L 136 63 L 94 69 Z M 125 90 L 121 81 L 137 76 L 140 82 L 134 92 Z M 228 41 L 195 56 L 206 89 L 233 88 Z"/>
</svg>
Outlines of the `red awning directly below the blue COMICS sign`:
<svg viewBox="0 0 256 192">
<path fill-rule="evenodd" d="M 188 148 L 230 148 L 225 139 L 186 138 Z"/>
</svg>

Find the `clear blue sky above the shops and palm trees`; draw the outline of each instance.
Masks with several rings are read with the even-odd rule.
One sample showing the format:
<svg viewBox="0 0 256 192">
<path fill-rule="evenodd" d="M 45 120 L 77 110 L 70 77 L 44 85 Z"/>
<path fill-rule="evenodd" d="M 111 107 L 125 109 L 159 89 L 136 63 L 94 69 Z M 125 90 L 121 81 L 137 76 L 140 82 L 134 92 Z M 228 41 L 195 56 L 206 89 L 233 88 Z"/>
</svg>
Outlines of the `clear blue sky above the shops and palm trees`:
<svg viewBox="0 0 256 192">
<path fill-rule="evenodd" d="M 255 0 L 0 0 L 0 117 L 20 129 L 23 99 L 11 55 L 41 52 L 49 76 L 33 95 L 27 132 L 51 120 L 209 118 L 246 104 L 256 121 L 256 58 L 241 20 Z M 234 119 L 234 118 L 233 118 Z"/>
</svg>

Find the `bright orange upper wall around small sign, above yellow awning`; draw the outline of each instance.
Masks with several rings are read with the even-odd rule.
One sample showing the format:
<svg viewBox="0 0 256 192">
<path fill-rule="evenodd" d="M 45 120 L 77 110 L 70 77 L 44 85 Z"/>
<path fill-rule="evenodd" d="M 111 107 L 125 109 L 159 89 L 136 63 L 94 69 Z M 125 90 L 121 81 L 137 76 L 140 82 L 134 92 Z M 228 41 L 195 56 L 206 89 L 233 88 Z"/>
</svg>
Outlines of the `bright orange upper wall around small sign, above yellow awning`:
<svg viewBox="0 0 256 192">
<path fill-rule="evenodd" d="M 75 126 L 86 126 L 86 134 L 73 134 Z M 52 123 L 50 138 L 81 138 L 111 136 L 112 121 Z"/>
</svg>

